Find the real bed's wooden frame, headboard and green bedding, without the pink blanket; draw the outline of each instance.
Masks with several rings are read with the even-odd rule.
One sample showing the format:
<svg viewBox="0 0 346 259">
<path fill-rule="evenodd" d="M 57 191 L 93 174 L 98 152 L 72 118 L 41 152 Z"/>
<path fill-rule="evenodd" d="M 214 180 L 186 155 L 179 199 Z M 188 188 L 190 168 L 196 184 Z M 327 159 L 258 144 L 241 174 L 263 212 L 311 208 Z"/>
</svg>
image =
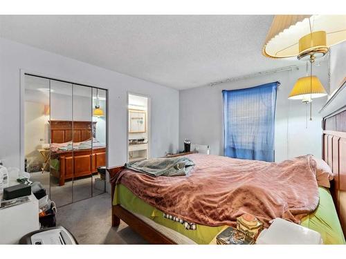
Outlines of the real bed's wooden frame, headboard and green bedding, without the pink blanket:
<svg viewBox="0 0 346 259">
<path fill-rule="evenodd" d="M 345 244 L 345 125 L 345 111 L 323 120 L 322 157 L 333 169 L 334 181 L 330 189 L 318 187 L 318 207 L 301 220 L 304 227 L 318 231 L 325 244 Z M 109 169 L 109 173 L 112 177 L 122 169 L 122 166 L 117 166 Z M 126 186 L 115 182 L 112 183 L 112 197 L 112 226 L 117 226 L 121 219 L 154 244 L 209 244 L 225 227 L 197 224 L 198 231 L 186 230 L 179 222 L 165 219 L 163 211 L 147 204 Z"/>
</svg>

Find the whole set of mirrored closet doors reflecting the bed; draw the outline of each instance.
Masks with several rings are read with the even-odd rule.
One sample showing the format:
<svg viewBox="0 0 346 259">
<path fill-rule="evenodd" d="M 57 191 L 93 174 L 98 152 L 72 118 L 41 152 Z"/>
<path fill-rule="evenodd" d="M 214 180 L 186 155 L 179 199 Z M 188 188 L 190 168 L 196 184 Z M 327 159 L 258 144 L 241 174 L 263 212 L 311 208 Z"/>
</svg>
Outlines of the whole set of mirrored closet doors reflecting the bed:
<svg viewBox="0 0 346 259">
<path fill-rule="evenodd" d="M 107 90 L 25 75 L 24 146 L 30 179 L 57 207 L 106 189 Z"/>
</svg>

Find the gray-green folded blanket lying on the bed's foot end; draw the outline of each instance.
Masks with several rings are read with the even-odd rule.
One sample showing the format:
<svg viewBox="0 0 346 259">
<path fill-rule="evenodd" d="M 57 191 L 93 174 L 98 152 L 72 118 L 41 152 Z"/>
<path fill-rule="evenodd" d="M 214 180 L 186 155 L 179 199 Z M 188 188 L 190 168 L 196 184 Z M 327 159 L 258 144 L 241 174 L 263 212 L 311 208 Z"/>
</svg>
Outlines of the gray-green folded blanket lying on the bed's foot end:
<svg viewBox="0 0 346 259">
<path fill-rule="evenodd" d="M 188 157 L 152 158 L 140 162 L 128 162 L 125 168 L 154 177 L 188 175 L 194 162 Z"/>
</svg>

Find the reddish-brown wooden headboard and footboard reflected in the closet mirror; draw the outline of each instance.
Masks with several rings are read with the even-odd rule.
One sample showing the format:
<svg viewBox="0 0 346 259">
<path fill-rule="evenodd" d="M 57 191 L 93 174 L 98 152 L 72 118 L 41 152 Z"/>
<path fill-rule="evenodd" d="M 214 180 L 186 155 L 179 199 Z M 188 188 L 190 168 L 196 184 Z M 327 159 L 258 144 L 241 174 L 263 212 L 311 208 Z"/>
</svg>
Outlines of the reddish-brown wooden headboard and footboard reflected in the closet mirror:
<svg viewBox="0 0 346 259">
<path fill-rule="evenodd" d="M 82 142 L 91 139 L 96 122 L 50 121 L 51 143 L 64 143 L 72 140 Z M 73 128 L 73 134 L 72 134 Z M 94 134 L 93 134 L 94 135 Z M 51 153 L 51 159 L 60 162 L 59 170 L 51 168 L 51 174 L 59 179 L 63 186 L 65 180 L 91 175 L 98 172 L 98 166 L 106 165 L 106 148 L 89 148 L 75 151 L 57 151 Z"/>
</svg>

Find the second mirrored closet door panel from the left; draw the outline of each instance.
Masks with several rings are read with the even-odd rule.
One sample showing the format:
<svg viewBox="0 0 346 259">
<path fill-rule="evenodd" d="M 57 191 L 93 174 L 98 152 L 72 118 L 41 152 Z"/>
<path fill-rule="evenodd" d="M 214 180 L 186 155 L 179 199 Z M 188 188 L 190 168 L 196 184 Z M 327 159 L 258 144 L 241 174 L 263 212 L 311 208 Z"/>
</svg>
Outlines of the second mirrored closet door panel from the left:
<svg viewBox="0 0 346 259">
<path fill-rule="evenodd" d="M 73 202 L 73 88 L 50 80 L 51 200 L 58 207 Z"/>
</svg>

